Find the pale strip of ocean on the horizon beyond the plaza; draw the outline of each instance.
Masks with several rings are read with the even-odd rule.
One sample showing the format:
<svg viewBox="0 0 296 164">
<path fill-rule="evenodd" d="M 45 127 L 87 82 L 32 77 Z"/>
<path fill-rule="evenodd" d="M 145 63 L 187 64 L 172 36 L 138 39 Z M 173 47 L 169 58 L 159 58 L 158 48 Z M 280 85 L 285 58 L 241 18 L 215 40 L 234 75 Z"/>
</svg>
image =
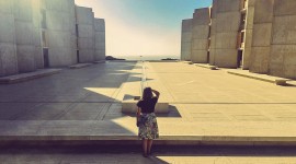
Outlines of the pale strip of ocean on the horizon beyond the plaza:
<svg viewBox="0 0 296 164">
<path fill-rule="evenodd" d="M 180 59 L 180 56 L 113 56 L 115 58 L 126 59 L 126 60 L 161 60 L 166 58 Z"/>
</svg>

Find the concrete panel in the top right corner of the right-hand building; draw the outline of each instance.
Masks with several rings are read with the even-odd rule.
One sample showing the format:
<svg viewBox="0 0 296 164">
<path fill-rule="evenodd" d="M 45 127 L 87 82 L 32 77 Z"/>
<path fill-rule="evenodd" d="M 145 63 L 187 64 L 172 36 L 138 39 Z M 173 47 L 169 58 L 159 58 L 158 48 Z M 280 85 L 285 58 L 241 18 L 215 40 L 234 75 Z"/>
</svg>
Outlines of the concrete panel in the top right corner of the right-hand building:
<svg viewBox="0 0 296 164">
<path fill-rule="evenodd" d="M 274 0 L 274 15 L 295 15 L 295 0 Z"/>
</svg>

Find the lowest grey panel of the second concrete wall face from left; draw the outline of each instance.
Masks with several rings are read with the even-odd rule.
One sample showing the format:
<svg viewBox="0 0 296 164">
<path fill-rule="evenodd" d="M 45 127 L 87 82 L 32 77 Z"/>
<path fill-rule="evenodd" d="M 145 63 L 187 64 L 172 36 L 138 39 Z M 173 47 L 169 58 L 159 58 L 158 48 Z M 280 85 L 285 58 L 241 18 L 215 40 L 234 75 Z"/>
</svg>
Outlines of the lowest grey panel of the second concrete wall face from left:
<svg viewBox="0 0 296 164">
<path fill-rule="evenodd" d="M 36 70 L 35 63 L 35 46 L 33 45 L 18 45 L 18 68 L 19 72 L 31 72 Z"/>
</svg>

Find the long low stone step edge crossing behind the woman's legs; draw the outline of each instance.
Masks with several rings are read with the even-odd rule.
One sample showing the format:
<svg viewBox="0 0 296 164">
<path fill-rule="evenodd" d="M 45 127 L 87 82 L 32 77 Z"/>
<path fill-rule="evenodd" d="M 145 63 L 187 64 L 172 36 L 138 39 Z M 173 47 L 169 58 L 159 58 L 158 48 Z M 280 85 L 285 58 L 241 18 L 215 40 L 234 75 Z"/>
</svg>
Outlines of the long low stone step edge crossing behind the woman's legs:
<svg viewBox="0 0 296 164">
<path fill-rule="evenodd" d="M 42 143 L 65 143 L 65 144 L 139 144 L 137 136 L 1 136 L 0 145 L 11 143 L 42 144 Z M 153 141 L 162 145 L 296 145 L 296 137 L 189 137 L 189 136 L 163 136 Z"/>
</svg>

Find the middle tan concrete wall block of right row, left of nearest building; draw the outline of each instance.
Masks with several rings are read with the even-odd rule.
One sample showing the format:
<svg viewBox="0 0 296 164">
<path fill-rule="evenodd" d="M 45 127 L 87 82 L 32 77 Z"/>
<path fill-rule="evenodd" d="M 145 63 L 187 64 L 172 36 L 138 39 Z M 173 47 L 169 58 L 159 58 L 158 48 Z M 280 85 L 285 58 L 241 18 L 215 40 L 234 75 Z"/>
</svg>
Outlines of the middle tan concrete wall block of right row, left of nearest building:
<svg viewBox="0 0 296 164">
<path fill-rule="evenodd" d="M 237 68 L 238 31 L 240 26 L 240 0 L 214 0 L 212 42 L 215 49 L 210 63 L 225 68 Z M 214 36 L 213 36 L 214 35 Z M 213 52 L 213 50 L 212 50 Z M 210 55 L 213 56 L 213 54 Z"/>
</svg>

